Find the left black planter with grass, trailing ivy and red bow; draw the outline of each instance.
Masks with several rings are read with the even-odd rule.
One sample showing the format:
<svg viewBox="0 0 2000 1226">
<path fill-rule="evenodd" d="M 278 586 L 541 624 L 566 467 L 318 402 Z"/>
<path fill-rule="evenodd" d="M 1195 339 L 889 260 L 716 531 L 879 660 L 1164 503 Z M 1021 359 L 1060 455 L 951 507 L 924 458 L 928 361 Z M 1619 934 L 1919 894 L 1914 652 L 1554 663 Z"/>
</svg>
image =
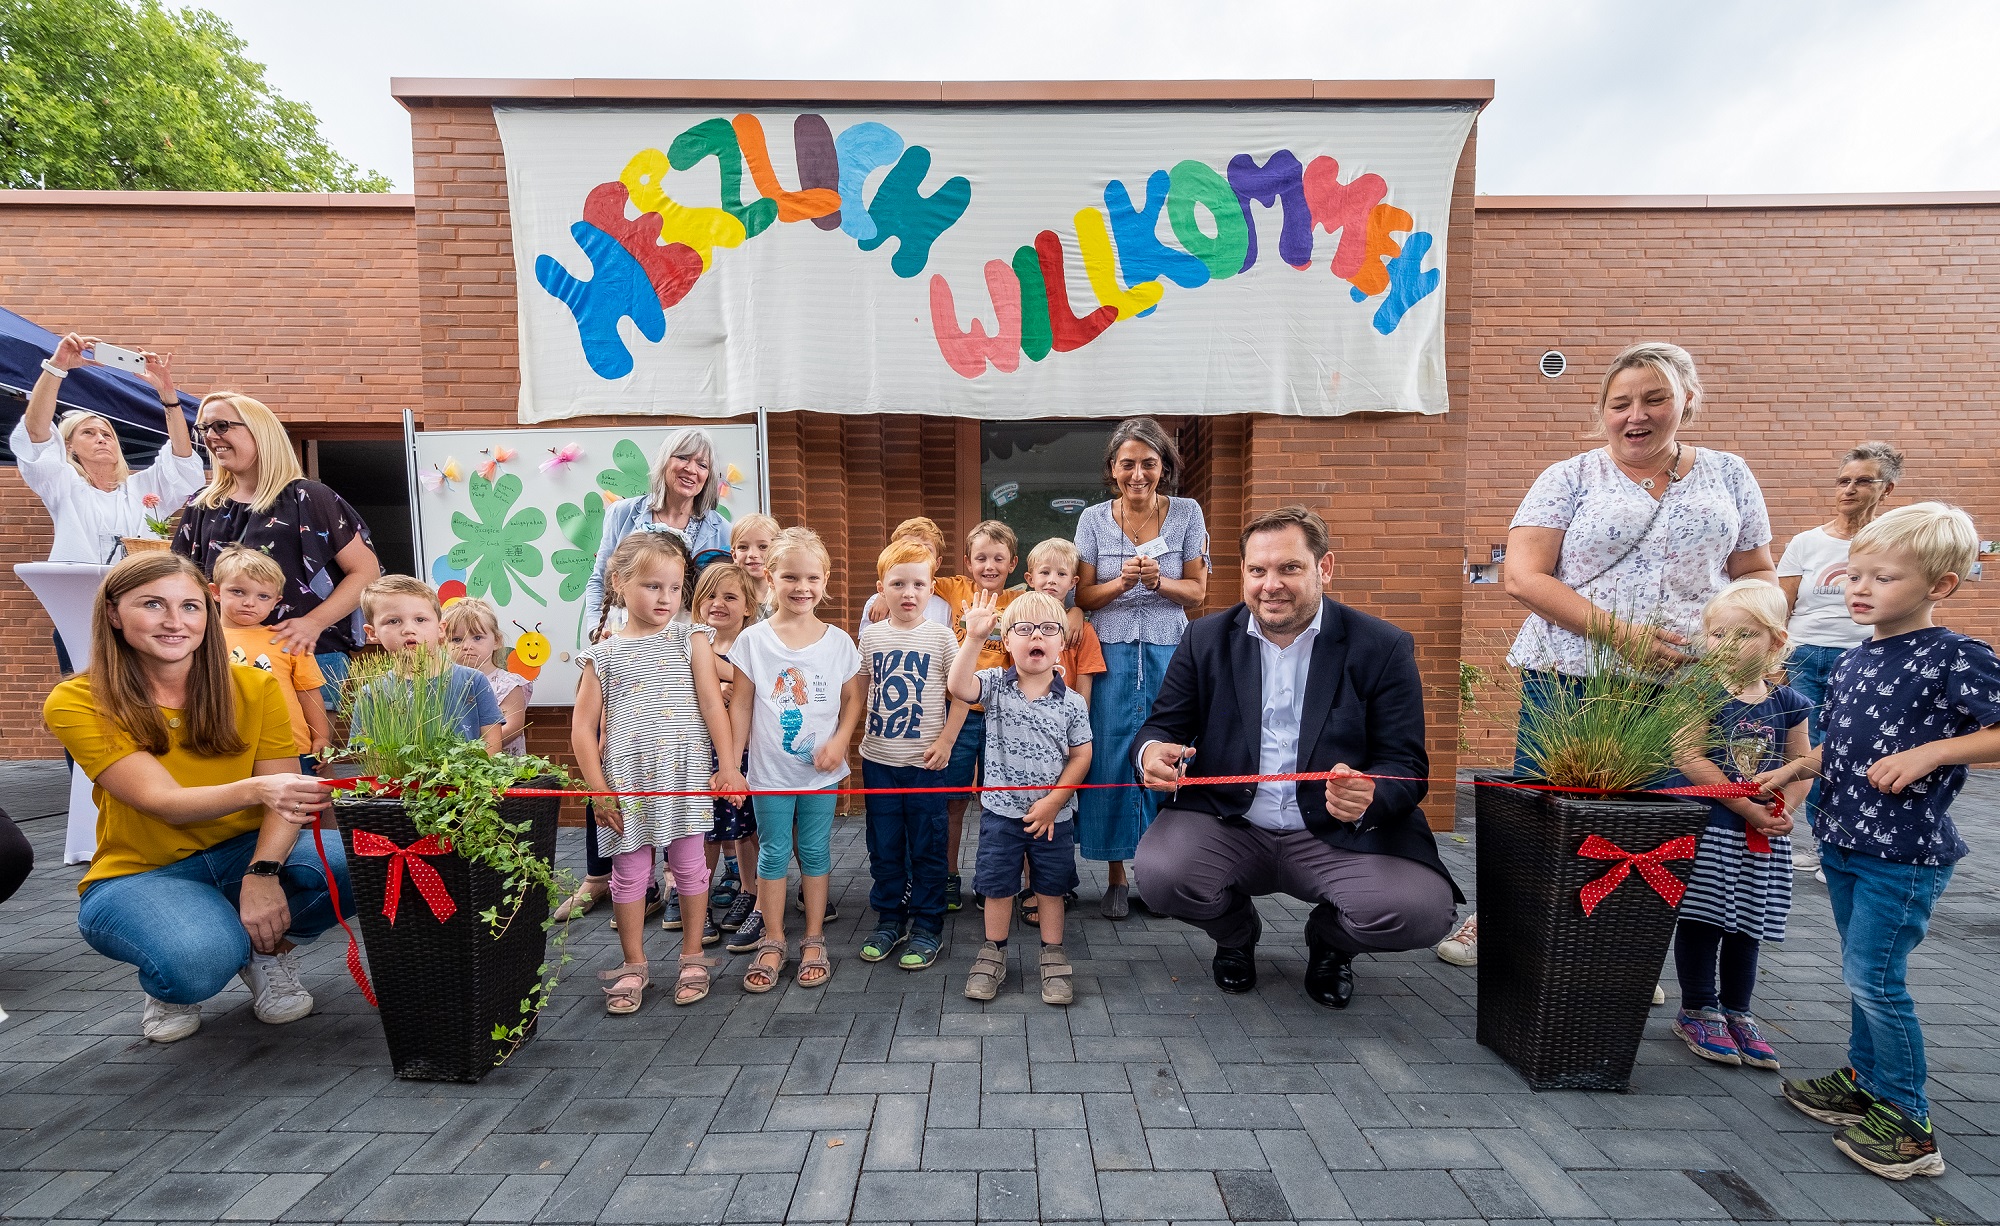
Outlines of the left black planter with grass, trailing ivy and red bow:
<svg viewBox="0 0 2000 1226">
<path fill-rule="evenodd" d="M 568 962 L 562 934 L 548 956 L 574 884 L 554 868 L 562 798 L 512 794 L 568 776 L 466 740 L 450 678 L 442 648 L 356 656 L 342 756 L 362 776 L 334 812 L 396 1076 L 476 1082 L 534 1034 Z"/>
</svg>

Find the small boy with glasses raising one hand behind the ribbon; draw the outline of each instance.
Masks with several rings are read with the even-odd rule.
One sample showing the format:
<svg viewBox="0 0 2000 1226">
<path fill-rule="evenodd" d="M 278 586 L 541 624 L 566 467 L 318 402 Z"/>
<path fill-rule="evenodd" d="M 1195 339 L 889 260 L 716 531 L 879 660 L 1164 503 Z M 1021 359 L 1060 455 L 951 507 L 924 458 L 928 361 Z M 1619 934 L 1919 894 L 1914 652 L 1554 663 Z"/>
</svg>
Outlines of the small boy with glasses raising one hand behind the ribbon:
<svg viewBox="0 0 2000 1226">
<path fill-rule="evenodd" d="M 980 668 L 978 644 L 1004 622 L 1008 668 Z M 1076 886 L 1076 784 L 1090 772 L 1090 710 L 1056 672 L 1062 604 L 1024 592 L 998 612 L 980 592 L 966 606 L 966 640 L 952 662 L 952 698 L 986 706 L 982 780 L 996 788 L 980 806 L 974 888 L 986 896 L 986 944 L 972 960 L 966 996 L 992 1000 L 1006 980 L 1006 940 L 1022 858 L 1042 928 L 1042 1002 L 1070 1004 L 1070 958 L 1062 952 L 1062 896 Z"/>
</svg>

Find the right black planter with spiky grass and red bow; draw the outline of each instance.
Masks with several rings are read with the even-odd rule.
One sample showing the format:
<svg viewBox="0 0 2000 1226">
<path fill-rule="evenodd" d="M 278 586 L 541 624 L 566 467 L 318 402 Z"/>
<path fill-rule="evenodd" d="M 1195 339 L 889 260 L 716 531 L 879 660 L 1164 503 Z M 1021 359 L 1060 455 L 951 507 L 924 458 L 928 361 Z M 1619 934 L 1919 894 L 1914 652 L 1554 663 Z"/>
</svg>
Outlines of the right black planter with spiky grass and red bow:
<svg viewBox="0 0 2000 1226">
<path fill-rule="evenodd" d="M 1488 710 L 1522 710 L 1520 678 L 1502 684 L 1514 702 Z M 1478 1040 L 1534 1090 L 1632 1080 L 1708 820 L 1704 802 L 1646 788 L 1708 736 L 1724 700 L 1716 662 L 1640 670 L 1608 630 L 1592 634 L 1586 674 L 1526 708 L 1530 774 L 1474 776 Z"/>
</svg>

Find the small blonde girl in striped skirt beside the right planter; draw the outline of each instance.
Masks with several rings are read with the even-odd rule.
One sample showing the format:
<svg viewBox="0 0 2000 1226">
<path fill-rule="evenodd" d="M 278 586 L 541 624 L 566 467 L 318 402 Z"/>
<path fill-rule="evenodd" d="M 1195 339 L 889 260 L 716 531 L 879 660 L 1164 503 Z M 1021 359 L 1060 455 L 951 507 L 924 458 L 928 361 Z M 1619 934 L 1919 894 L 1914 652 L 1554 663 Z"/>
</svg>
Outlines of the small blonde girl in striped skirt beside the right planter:
<svg viewBox="0 0 2000 1226">
<path fill-rule="evenodd" d="M 1730 698 L 1700 750 L 1676 766 L 1692 784 L 1754 780 L 1804 754 L 1810 702 L 1766 680 L 1784 664 L 1784 592 L 1762 580 L 1736 580 L 1702 610 L 1708 650 L 1720 662 Z M 1784 814 L 1752 800 L 1710 800 L 1688 892 L 1674 928 L 1680 1014 L 1674 1034 L 1704 1060 L 1778 1068 L 1750 1016 L 1758 944 L 1784 940 L 1792 912 L 1792 814 L 1810 782 L 1784 790 Z M 1720 980 L 1720 982 L 1718 982 Z"/>
</svg>

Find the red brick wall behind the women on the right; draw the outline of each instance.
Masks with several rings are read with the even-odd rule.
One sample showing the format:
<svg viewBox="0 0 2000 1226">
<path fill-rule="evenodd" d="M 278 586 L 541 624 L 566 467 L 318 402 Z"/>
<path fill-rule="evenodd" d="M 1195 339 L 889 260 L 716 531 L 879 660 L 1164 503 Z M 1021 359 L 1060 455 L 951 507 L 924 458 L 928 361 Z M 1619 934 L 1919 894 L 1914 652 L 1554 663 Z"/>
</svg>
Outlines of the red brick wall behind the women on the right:
<svg viewBox="0 0 2000 1226">
<path fill-rule="evenodd" d="M 1544 466 L 1596 446 L 1598 376 L 1636 340 L 1694 354 L 1708 410 L 1684 438 L 1750 462 L 1774 558 L 1830 516 L 1838 456 L 1870 438 L 1908 452 L 1894 502 L 1956 502 L 2000 536 L 2000 206 L 1482 208 L 1468 254 L 1474 382 L 1454 404 L 1474 562 Z M 1550 348 L 1570 360 L 1558 380 L 1534 368 Z M 1996 584 L 1944 620 L 1992 640 Z M 1498 586 L 1466 588 L 1468 658 L 1494 664 L 1522 616 Z M 1470 722 L 1480 760 L 1508 754 L 1500 714 Z"/>
</svg>

